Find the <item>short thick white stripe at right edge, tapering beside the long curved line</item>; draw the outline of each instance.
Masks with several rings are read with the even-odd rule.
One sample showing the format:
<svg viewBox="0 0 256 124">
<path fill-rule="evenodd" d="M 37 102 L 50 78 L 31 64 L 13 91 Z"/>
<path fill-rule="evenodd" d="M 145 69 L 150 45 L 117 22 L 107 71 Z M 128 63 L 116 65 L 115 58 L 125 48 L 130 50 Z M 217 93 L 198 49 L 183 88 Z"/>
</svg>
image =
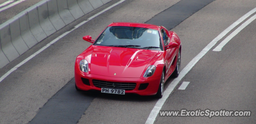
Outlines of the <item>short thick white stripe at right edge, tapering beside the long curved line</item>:
<svg viewBox="0 0 256 124">
<path fill-rule="evenodd" d="M 244 22 L 240 27 L 238 27 L 234 32 L 232 32 L 226 39 L 224 39 L 216 48 L 212 51 L 221 51 L 222 48 L 230 41 L 233 37 L 235 37 L 242 29 L 244 29 L 247 25 L 249 25 L 254 19 L 256 19 L 256 15 L 252 16 L 246 22 Z"/>
</svg>

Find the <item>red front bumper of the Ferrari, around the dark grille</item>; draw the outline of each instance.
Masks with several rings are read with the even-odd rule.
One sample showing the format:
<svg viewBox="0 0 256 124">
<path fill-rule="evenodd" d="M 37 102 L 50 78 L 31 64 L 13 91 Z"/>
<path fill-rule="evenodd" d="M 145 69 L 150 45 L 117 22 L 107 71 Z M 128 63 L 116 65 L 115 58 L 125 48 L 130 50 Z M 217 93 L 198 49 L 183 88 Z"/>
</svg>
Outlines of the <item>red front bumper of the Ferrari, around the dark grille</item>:
<svg viewBox="0 0 256 124">
<path fill-rule="evenodd" d="M 81 77 L 89 79 L 90 86 L 85 85 Z M 101 91 L 101 88 L 95 87 L 92 83 L 92 79 L 112 81 L 112 82 L 127 82 L 127 83 L 136 83 L 136 87 L 133 90 L 126 90 L 125 93 L 136 93 L 138 95 L 155 95 L 158 91 L 160 84 L 161 76 L 152 78 L 152 79 L 140 79 L 140 78 L 123 78 L 123 77 L 108 77 L 108 76 L 99 76 L 95 74 L 82 74 L 75 70 L 75 82 L 78 89 L 88 91 L 91 89 Z M 139 90 L 141 83 L 149 83 L 148 87 L 143 90 Z"/>
</svg>

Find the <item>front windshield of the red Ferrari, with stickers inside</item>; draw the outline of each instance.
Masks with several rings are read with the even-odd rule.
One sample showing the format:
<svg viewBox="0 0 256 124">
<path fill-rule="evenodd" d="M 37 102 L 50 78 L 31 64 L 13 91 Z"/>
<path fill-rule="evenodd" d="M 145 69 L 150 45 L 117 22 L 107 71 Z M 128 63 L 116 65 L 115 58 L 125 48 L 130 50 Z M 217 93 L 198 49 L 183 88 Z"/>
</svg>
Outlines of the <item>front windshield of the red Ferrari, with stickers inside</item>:
<svg viewBox="0 0 256 124">
<path fill-rule="evenodd" d="M 108 27 L 94 45 L 162 50 L 158 31 L 143 27 Z"/>
</svg>

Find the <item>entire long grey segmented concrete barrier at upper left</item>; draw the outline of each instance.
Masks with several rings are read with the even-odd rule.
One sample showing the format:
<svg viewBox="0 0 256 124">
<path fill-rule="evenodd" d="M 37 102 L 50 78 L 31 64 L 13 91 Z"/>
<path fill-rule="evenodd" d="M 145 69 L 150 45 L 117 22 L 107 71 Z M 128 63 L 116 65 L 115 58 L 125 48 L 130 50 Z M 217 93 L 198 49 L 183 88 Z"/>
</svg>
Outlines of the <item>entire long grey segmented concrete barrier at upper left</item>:
<svg viewBox="0 0 256 124">
<path fill-rule="evenodd" d="M 0 68 L 112 0 L 42 0 L 0 25 Z"/>
</svg>

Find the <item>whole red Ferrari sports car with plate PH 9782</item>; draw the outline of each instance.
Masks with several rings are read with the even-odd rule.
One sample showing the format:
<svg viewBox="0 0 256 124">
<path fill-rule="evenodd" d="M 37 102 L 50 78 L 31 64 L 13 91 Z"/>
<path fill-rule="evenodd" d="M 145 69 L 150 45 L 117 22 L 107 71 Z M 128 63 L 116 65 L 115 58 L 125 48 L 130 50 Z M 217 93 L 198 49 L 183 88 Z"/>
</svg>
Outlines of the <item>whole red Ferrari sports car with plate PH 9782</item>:
<svg viewBox="0 0 256 124">
<path fill-rule="evenodd" d="M 173 31 L 144 23 L 111 23 L 76 58 L 77 90 L 156 95 L 180 72 L 181 43 Z"/>
</svg>

